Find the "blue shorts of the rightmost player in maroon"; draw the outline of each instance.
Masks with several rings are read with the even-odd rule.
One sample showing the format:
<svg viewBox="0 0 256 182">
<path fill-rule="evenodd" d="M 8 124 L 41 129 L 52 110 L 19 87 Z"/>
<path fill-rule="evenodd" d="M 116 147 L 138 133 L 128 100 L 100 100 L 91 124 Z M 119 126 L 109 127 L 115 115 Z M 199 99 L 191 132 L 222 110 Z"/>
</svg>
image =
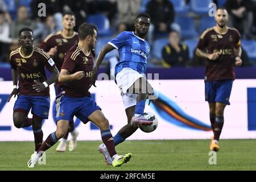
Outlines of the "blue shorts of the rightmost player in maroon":
<svg viewBox="0 0 256 182">
<path fill-rule="evenodd" d="M 231 94 L 233 80 L 206 81 L 205 82 L 205 101 L 221 102 L 230 105 L 229 97 Z"/>
</svg>

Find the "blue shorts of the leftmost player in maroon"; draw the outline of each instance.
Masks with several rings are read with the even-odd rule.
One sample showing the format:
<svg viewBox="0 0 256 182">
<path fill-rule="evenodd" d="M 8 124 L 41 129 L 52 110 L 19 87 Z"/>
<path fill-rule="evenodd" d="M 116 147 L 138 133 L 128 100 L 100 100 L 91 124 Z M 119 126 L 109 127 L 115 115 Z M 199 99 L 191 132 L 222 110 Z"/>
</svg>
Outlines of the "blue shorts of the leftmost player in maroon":
<svg viewBox="0 0 256 182">
<path fill-rule="evenodd" d="M 26 110 L 27 113 L 31 109 L 31 113 L 41 117 L 43 119 L 48 119 L 50 107 L 50 98 L 48 96 L 23 96 L 19 95 L 15 104 L 14 112 L 19 112 L 20 110 Z"/>
</svg>

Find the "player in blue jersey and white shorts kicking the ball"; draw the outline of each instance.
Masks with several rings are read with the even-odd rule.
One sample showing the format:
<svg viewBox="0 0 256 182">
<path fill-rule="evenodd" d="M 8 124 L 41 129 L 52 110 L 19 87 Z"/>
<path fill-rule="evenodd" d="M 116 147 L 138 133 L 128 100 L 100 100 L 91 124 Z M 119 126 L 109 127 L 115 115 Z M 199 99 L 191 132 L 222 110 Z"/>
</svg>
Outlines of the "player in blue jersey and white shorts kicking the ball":
<svg viewBox="0 0 256 182">
<path fill-rule="evenodd" d="M 150 15 L 146 13 L 137 15 L 135 32 L 124 31 L 110 40 L 101 49 L 94 64 L 91 85 L 96 86 L 96 74 L 104 56 L 113 49 L 118 49 L 120 61 L 115 66 L 115 82 L 121 92 L 128 123 L 113 137 L 115 146 L 130 137 L 138 129 L 138 125 L 153 123 L 143 116 L 145 101 L 153 93 L 151 85 L 144 77 L 150 52 L 150 44 L 144 37 L 150 27 L 150 20 Z M 111 165 L 112 159 L 104 143 L 98 147 L 98 151 L 105 156 L 106 163 Z"/>
</svg>

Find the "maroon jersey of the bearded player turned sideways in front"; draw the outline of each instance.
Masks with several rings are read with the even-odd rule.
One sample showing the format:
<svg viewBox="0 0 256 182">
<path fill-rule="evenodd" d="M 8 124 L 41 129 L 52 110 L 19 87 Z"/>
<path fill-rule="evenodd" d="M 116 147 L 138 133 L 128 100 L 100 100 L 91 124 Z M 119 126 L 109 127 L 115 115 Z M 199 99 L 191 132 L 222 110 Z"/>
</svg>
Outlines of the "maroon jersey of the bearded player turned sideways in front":
<svg viewBox="0 0 256 182">
<path fill-rule="evenodd" d="M 61 69 L 66 69 L 70 74 L 84 71 L 85 76 L 80 80 L 65 82 L 60 86 L 61 93 L 68 97 L 85 97 L 89 95 L 90 77 L 93 72 L 95 53 L 90 50 L 89 56 L 75 45 L 67 52 Z"/>
</svg>

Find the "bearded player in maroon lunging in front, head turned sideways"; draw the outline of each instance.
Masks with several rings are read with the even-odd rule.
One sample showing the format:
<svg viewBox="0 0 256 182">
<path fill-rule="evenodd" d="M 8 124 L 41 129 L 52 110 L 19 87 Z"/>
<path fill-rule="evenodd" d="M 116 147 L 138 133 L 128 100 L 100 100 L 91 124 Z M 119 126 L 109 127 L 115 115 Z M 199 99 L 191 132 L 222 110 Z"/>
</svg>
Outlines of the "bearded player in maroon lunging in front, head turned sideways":
<svg viewBox="0 0 256 182">
<path fill-rule="evenodd" d="M 131 154 L 119 156 L 115 151 L 114 140 L 105 118 L 96 102 L 90 98 L 90 79 L 93 72 L 94 51 L 97 27 L 83 23 L 79 27 L 79 44 L 67 52 L 61 67 L 59 81 L 64 82 L 61 93 L 56 97 L 57 130 L 50 134 L 38 151 L 31 155 L 28 167 L 35 167 L 43 151 L 52 147 L 68 131 L 69 121 L 76 115 L 82 122 L 96 124 L 101 131 L 103 143 L 108 148 L 114 167 L 121 166 L 130 160 Z"/>
</svg>

